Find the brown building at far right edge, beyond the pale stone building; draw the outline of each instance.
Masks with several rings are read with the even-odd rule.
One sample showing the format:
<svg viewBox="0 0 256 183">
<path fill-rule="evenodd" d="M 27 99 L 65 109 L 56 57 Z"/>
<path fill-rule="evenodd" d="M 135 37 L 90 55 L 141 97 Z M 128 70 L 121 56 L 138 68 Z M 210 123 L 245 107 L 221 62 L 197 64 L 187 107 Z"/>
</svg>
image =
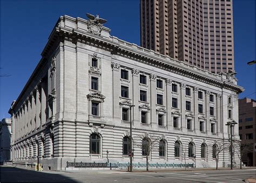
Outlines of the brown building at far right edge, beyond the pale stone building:
<svg viewBox="0 0 256 183">
<path fill-rule="evenodd" d="M 250 98 L 239 100 L 239 136 L 242 142 L 253 144 L 252 152 L 242 157 L 247 166 L 256 166 L 256 101 Z"/>
</svg>

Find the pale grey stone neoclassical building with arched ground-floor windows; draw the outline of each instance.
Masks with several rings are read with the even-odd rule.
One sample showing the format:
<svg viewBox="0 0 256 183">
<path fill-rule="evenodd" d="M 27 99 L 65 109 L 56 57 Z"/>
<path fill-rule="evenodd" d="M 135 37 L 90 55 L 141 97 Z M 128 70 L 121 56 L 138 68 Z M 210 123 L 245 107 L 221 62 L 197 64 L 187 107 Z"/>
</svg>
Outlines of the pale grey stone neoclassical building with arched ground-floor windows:
<svg viewBox="0 0 256 183">
<path fill-rule="evenodd" d="M 228 143 L 225 124 L 238 121 L 243 89 L 234 73 L 187 65 L 110 36 L 110 29 L 91 21 L 62 16 L 52 30 L 9 110 L 12 160 L 36 163 L 39 157 L 44 170 L 65 170 L 66 161 L 128 163 L 131 118 L 135 163 L 146 161 L 135 145 L 145 134 L 159 136 L 150 163 L 185 158 L 215 166 L 214 144 Z M 238 125 L 233 131 L 239 139 Z M 225 150 L 219 166 L 228 164 Z"/>
</svg>

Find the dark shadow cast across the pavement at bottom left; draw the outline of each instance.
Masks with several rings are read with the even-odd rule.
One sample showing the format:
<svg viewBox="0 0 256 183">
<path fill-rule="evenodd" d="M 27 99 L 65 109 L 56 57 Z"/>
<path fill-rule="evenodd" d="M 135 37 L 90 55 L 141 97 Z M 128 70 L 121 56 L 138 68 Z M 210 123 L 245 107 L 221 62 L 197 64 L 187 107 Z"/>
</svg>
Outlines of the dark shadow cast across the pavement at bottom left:
<svg viewBox="0 0 256 183">
<path fill-rule="evenodd" d="M 79 182 L 54 172 L 36 172 L 22 168 L 0 166 L 0 182 Z"/>
</svg>

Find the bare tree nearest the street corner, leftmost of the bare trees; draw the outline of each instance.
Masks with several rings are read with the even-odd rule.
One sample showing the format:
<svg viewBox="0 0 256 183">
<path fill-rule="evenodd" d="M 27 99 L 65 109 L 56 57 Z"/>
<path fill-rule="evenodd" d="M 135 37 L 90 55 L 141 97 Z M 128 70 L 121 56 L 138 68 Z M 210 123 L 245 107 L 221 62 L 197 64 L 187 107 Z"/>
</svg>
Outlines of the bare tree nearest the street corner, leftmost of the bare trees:
<svg viewBox="0 0 256 183">
<path fill-rule="evenodd" d="M 161 136 L 145 133 L 134 137 L 134 145 L 142 150 L 142 156 L 146 157 L 146 171 L 149 171 L 149 156 L 152 151 L 159 151 Z"/>
</svg>

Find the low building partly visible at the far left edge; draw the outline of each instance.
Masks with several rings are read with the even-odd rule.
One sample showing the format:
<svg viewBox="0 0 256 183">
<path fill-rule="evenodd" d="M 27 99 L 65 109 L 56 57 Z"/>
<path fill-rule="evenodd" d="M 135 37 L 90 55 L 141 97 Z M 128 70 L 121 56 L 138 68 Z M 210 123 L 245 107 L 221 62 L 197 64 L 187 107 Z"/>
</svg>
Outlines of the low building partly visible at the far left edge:
<svg viewBox="0 0 256 183">
<path fill-rule="evenodd" d="M 11 158 L 11 134 L 11 119 L 2 119 L 0 122 L 0 164 Z"/>
</svg>

